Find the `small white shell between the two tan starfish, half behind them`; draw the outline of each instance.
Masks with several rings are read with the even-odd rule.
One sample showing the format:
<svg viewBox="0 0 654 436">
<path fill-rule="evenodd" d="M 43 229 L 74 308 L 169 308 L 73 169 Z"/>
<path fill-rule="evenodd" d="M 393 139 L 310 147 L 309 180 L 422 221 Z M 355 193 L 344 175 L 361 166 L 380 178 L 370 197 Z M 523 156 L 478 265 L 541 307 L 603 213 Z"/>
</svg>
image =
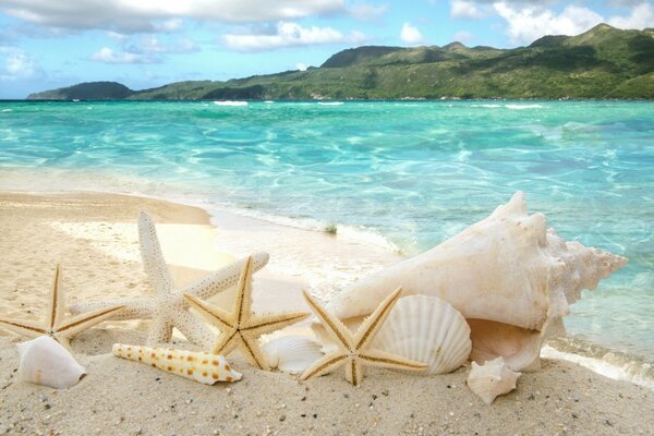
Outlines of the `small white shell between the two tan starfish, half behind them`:
<svg viewBox="0 0 654 436">
<path fill-rule="evenodd" d="M 284 373 L 300 374 L 323 356 L 320 344 L 305 336 L 283 336 L 263 347 L 268 365 Z"/>
</svg>

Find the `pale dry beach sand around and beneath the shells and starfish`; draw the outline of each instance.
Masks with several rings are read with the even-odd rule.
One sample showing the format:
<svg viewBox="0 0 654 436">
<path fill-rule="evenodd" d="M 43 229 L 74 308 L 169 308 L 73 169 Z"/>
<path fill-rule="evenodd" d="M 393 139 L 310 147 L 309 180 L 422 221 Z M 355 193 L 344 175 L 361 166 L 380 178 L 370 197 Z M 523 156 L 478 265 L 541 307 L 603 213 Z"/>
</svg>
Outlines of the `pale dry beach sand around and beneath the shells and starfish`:
<svg viewBox="0 0 654 436">
<path fill-rule="evenodd" d="M 161 201 L 1 193 L 0 315 L 37 319 L 57 262 L 69 303 L 149 293 L 137 247 L 141 209 L 158 222 L 179 283 L 250 251 L 269 251 L 269 267 L 255 276 L 257 310 L 304 307 L 302 289 L 328 298 L 356 271 L 397 261 L 363 244 L 230 214 L 214 220 L 216 230 L 203 210 Z M 226 294 L 219 303 L 229 303 Z M 468 368 L 428 378 L 373 368 L 354 388 L 340 371 L 299 382 L 232 354 L 243 380 L 204 386 L 109 354 L 113 342 L 143 343 L 146 327 L 106 323 L 73 340 L 88 375 L 63 390 L 16 383 L 19 339 L 0 336 L 0 434 L 654 434 L 652 391 L 570 363 L 544 361 L 491 407 L 465 386 Z"/>
</svg>

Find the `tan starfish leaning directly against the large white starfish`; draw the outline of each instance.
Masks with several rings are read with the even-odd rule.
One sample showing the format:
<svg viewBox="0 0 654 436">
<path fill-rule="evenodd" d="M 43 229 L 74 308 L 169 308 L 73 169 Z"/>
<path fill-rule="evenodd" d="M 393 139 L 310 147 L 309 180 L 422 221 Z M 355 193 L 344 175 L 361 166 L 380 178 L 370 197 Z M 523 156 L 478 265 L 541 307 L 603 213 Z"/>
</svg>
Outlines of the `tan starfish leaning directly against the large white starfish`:
<svg viewBox="0 0 654 436">
<path fill-rule="evenodd" d="M 308 316 L 305 312 L 255 315 L 252 313 L 252 257 L 243 266 L 237 296 L 231 312 L 207 304 L 195 295 L 184 294 L 193 308 L 220 329 L 220 336 L 214 344 L 214 354 L 228 355 L 239 348 L 253 366 L 269 371 L 264 352 L 258 344 L 259 336 L 268 334 Z"/>
</svg>

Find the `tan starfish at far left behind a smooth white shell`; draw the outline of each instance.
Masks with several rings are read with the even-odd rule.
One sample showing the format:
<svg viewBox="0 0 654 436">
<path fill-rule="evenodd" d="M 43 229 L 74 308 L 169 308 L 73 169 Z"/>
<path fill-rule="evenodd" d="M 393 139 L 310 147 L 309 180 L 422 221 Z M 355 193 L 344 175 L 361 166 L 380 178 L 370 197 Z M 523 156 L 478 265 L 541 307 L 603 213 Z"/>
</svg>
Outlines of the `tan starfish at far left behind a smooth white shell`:
<svg viewBox="0 0 654 436">
<path fill-rule="evenodd" d="M 102 307 L 82 315 L 63 318 L 63 314 L 65 313 L 64 300 L 61 272 L 59 264 L 57 264 L 52 291 L 50 292 L 50 304 L 48 305 L 45 323 L 36 324 L 20 319 L 0 318 L 0 326 L 28 338 L 48 335 L 70 349 L 70 340 L 73 336 L 108 319 L 123 308 L 123 306 Z"/>
</svg>

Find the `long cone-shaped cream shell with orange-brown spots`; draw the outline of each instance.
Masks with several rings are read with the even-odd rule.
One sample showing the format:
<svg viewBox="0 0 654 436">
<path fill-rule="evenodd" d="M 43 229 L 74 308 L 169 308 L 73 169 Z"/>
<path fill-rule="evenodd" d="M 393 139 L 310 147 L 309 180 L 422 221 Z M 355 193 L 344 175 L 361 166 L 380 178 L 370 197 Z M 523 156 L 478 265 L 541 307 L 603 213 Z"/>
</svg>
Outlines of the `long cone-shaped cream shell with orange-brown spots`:
<svg viewBox="0 0 654 436">
<path fill-rule="evenodd" d="M 143 362 L 205 385 L 237 382 L 242 377 L 242 374 L 232 370 L 227 360 L 219 354 L 122 343 L 114 343 L 111 351 L 119 358 Z"/>
</svg>

